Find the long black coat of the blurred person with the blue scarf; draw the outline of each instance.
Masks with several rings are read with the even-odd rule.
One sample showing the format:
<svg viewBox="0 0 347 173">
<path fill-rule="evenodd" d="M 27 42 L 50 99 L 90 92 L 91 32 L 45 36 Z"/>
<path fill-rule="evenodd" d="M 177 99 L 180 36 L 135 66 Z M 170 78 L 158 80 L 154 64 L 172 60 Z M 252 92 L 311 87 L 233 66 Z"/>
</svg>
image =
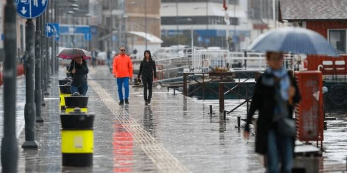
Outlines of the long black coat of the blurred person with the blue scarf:
<svg viewBox="0 0 347 173">
<path fill-rule="evenodd" d="M 292 86 L 295 87 L 295 95 L 292 98 L 293 99 L 293 105 L 297 104 L 301 100 L 301 96 L 299 93 L 299 88 L 296 83 L 296 81 L 293 79 L 293 75 L 291 72 L 289 72 L 290 79 L 292 82 Z M 264 86 L 261 83 L 261 78 L 264 77 L 264 75 L 270 75 L 263 73 L 260 75 L 260 77 L 257 80 L 254 95 L 252 98 L 252 103 L 250 110 L 247 115 L 247 123 L 245 127 L 245 131 L 250 131 L 249 125 L 251 124 L 252 117 L 256 110 L 259 110 L 259 117 L 257 120 L 257 136 L 256 136 L 256 152 L 260 154 L 267 153 L 267 136 L 269 129 L 274 126 L 274 123 L 272 122 L 273 118 L 273 110 L 276 105 L 275 102 L 275 88 L 273 86 Z M 293 105 L 288 104 L 288 116 L 289 118 L 292 118 L 293 115 Z M 295 138 L 292 140 L 292 144 L 294 146 Z"/>
</svg>

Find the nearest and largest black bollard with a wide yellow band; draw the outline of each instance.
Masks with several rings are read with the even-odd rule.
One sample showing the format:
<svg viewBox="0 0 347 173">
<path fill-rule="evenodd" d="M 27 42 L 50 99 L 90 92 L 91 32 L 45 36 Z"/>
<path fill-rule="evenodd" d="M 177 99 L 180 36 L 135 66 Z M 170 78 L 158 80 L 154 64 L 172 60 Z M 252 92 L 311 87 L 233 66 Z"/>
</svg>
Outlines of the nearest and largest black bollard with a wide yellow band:
<svg viewBox="0 0 347 173">
<path fill-rule="evenodd" d="M 72 116 L 71 116 L 72 115 Z M 60 114 L 62 165 L 91 167 L 93 165 L 94 115 L 81 112 Z"/>
</svg>

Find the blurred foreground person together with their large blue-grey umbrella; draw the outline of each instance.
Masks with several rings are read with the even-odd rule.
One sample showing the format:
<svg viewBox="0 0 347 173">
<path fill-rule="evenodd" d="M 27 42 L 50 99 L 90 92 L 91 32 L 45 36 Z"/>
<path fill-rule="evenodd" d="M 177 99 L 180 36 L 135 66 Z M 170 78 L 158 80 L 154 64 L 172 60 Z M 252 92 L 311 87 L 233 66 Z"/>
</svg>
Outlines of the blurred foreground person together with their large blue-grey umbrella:
<svg viewBox="0 0 347 173">
<path fill-rule="evenodd" d="M 267 173 L 291 173 L 296 124 L 294 104 L 301 100 L 293 71 L 283 67 L 282 52 L 306 55 L 339 56 L 322 36 L 303 28 L 281 28 L 260 35 L 248 51 L 266 52 L 268 68 L 258 78 L 247 115 L 244 137 L 249 138 L 250 124 L 256 110 L 256 152 L 267 160 Z M 281 163 L 281 168 L 279 168 Z"/>
</svg>

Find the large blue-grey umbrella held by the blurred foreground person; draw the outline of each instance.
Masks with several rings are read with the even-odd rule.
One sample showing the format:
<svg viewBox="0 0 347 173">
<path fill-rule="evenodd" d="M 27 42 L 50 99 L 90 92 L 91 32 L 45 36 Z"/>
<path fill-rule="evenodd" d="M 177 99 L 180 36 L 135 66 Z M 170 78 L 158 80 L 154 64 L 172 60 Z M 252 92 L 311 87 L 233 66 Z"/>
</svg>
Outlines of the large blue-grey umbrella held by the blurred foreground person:
<svg viewBox="0 0 347 173">
<path fill-rule="evenodd" d="M 312 30 L 294 27 L 268 31 L 255 39 L 247 50 L 339 56 L 336 49 L 322 35 Z"/>
</svg>

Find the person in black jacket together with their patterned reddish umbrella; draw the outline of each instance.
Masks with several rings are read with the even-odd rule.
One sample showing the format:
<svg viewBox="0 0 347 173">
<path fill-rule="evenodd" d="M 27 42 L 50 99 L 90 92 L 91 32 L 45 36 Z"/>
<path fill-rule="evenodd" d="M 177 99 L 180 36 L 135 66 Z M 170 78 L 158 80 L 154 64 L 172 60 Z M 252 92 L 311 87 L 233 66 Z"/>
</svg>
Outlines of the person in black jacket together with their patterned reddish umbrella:
<svg viewBox="0 0 347 173">
<path fill-rule="evenodd" d="M 57 57 L 65 60 L 71 59 L 70 68 L 67 71 L 67 74 L 72 77 L 71 93 L 78 92 L 86 96 L 88 90 L 87 74 L 89 72 L 86 60 L 91 59 L 90 53 L 84 49 L 72 48 L 64 49 Z"/>
</svg>

